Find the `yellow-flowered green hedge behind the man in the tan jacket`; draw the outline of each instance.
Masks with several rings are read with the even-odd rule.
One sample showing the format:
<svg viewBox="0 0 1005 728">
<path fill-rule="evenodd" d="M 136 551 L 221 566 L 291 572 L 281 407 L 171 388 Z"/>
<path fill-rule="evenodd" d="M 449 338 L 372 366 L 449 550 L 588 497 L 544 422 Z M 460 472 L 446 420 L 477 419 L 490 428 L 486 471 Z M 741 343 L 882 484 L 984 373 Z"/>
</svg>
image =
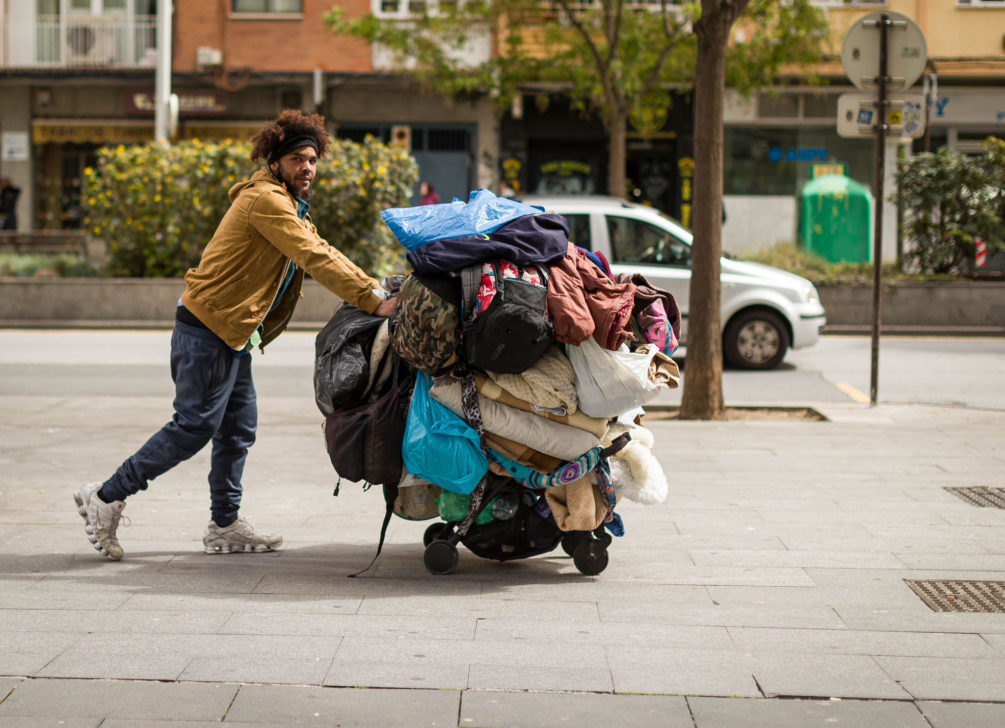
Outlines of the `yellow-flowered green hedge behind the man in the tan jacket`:
<svg viewBox="0 0 1005 728">
<path fill-rule="evenodd" d="M 108 243 L 111 275 L 170 278 L 199 262 L 230 207 L 228 190 L 258 169 L 246 143 L 183 142 L 107 147 L 84 175 L 84 226 Z M 398 261 L 380 218 L 407 204 L 418 171 L 411 156 L 368 139 L 335 140 L 318 164 L 311 218 L 319 234 L 373 275 Z"/>
</svg>

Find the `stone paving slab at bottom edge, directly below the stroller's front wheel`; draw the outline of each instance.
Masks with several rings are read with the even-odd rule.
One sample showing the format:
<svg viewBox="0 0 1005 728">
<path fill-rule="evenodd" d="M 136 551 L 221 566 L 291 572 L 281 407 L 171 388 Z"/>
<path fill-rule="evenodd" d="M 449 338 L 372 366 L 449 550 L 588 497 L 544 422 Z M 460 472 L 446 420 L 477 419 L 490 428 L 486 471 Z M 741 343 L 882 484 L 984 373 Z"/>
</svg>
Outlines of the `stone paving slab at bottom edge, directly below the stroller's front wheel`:
<svg viewBox="0 0 1005 728">
<path fill-rule="evenodd" d="M 460 725 L 470 728 L 691 728 L 680 697 L 465 691 Z"/>
</svg>

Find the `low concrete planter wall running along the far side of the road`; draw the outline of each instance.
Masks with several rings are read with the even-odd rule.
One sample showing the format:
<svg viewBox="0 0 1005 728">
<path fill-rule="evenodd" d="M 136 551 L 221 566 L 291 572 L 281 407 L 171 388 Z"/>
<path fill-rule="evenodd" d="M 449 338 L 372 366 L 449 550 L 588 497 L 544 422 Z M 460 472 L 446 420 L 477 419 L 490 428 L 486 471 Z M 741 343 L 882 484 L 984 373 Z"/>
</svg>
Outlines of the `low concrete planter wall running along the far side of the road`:
<svg viewBox="0 0 1005 728">
<path fill-rule="evenodd" d="M 179 279 L 0 279 L 0 326 L 170 326 L 185 284 Z M 868 287 L 821 286 L 828 322 L 855 330 L 868 326 Z M 339 299 L 314 281 L 291 327 L 318 328 Z M 1005 331 L 1005 282 L 920 283 L 887 286 L 884 327 Z"/>
</svg>

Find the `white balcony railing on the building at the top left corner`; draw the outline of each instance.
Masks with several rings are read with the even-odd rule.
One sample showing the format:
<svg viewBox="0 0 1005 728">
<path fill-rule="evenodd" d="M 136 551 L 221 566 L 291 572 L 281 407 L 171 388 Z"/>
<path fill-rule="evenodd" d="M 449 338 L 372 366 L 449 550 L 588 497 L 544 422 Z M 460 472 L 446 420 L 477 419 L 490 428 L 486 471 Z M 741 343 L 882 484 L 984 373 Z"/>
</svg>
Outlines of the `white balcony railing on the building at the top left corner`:
<svg viewBox="0 0 1005 728">
<path fill-rule="evenodd" d="M 156 39 L 157 18 L 152 16 L 8 20 L 3 26 L 0 65 L 38 70 L 153 68 Z"/>
</svg>

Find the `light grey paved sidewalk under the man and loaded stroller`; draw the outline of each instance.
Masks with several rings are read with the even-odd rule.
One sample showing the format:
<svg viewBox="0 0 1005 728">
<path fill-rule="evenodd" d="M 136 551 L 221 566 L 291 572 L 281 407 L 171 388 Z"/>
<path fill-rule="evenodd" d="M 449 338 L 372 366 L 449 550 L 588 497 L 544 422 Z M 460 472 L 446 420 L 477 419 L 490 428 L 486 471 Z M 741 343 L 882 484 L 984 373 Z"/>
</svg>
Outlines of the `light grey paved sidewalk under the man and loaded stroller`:
<svg viewBox="0 0 1005 728">
<path fill-rule="evenodd" d="M 99 557 L 71 491 L 169 408 L 0 398 L 0 728 L 1005 725 L 1005 615 L 936 614 L 903 583 L 1005 580 L 1005 511 L 943 489 L 1003 485 L 1005 413 L 652 423 L 670 497 L 621 508 L 599 576 L 462 551 L 433 577 L 425 524 L 395 519 L 350 579 L 382 498 L 332 497 L 303 398 L 261 400 L 245 483 L 282 551 L 199 550 L 204 452 L 130 501 L 126 559 Z"/>
</svg>

